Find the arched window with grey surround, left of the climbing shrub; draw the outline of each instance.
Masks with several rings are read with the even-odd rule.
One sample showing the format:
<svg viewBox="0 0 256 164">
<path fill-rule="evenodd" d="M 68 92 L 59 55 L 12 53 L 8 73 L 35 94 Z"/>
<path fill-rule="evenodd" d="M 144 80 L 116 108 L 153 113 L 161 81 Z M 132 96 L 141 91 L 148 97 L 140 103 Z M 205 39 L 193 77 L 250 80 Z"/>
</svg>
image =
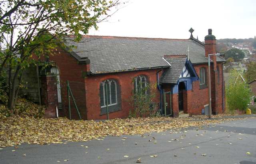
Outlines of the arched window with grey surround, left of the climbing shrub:
<svg viewBox="0 0 256 164">
<path fill-rule="evenodd" d="M 120 110 L 120 89 L 118 82 L 113 79 L 104 80 L 100 83 L 100 107 L 101 114 L 106 114 L 106 107 L 108 112 Z"/>
</svg>

